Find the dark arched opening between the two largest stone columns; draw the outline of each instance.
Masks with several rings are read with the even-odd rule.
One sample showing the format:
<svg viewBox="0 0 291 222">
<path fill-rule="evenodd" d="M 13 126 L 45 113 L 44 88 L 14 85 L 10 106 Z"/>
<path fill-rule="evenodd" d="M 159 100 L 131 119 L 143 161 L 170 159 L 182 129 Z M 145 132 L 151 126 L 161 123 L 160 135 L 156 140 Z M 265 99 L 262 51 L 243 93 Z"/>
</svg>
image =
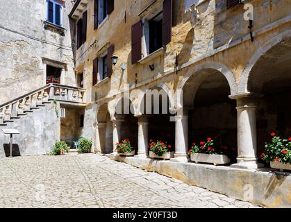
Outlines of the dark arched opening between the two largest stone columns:
<svg viewBox="0 0 291 222">
<path fill-rule="evenodd" d="M 219 146 L 233 164 L 238 157 L 237 112 L 230 95 L 228 80 L 217 69 L 201 69 L 183 86 L 183 108 L 189 114 L 189 146 L 210 137 L 215 148 Z"/>
</svg>

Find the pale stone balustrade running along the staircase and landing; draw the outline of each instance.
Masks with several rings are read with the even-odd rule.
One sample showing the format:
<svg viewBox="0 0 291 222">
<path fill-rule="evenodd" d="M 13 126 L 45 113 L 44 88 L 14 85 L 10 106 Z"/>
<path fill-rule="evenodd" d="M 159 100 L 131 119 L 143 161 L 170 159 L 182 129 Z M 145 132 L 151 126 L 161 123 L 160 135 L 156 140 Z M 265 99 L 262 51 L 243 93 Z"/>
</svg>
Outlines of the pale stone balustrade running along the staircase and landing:
<svg viewBox="0 0 291 222">
<path fill-rule="evenodd" d="M 48 84 L 0 105 L 0 127 L 21 119 L 29 112 L 45 107 L 53 101 L 85 104 L 85 89 L 60 84 Z"/>
</svg>

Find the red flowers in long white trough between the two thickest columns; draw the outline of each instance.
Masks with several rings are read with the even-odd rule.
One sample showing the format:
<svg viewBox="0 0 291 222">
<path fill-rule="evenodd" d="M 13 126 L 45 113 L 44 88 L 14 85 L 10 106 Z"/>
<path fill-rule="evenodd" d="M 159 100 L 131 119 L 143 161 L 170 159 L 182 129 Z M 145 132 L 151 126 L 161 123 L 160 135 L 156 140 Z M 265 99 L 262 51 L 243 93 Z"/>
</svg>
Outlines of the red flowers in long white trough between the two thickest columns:
<svg viewBox="0 0 291 222">
<path fill-rule="evenodd" d="M 217 146 L 213 139 L 208 138 L 206 142 L 200 142 L 199 146 L 195 143 L 192 144 L 189 155 L 191 161 L 196 163 L 206 162 L 215 166 L 228 164 L 231 160 L 227 155 L 224 155 L 223 148 L 223 146 Z"/>
</svg>

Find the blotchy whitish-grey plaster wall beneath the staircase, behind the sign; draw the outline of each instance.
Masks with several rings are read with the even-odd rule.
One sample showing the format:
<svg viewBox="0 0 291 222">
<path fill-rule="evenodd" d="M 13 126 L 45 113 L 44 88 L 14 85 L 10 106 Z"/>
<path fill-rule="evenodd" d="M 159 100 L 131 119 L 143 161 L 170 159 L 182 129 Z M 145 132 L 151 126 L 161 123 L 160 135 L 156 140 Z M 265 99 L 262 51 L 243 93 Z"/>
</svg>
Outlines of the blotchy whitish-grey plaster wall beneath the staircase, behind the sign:
<svg viewBox="0 0 291 222">
<path fill-rule="evenodd" d="M 3 127 L 19 130 L 20 134 L 13 138 L 13 146 L 18 146 L 20 155 L 44 155 L 60 141 L 60 118 L 56 114 L 59 108 L 58 103 L 47 104 Z M 8 146 L 9 137 L 0 132 L 0 157 L 5 157 L 3 146 Z"/>
</svg>

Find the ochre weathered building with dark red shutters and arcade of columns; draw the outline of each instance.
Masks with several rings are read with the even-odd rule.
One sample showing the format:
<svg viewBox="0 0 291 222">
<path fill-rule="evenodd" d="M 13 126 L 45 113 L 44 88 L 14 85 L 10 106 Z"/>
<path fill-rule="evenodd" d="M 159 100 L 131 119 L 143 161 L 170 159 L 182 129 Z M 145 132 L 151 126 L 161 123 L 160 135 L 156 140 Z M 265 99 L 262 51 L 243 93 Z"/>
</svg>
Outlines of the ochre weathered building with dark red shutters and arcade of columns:
<svg viewBox="0 0 291 222">
<path fill-rule="evenodd" d="M 80 135 L 95 151 L 128 138 L 137 156 L 113 159 L 244 200 L 251 185 L 253 203 L 290 206 L 290 177 L 282 183 L 258 162 L 270 132 L 291 135 L 290 1 L 78 0 L 69 19 L 75 72 L 65 85 L 85 90 Z M 165 114 L 144 114 L 149 89 L 166 95 Z M 207 137 L 227 146 L 230 166 L 188 162 Z M 149 139 L 167 140 L 174 158 L 153 164 Z"/>
</svg>

